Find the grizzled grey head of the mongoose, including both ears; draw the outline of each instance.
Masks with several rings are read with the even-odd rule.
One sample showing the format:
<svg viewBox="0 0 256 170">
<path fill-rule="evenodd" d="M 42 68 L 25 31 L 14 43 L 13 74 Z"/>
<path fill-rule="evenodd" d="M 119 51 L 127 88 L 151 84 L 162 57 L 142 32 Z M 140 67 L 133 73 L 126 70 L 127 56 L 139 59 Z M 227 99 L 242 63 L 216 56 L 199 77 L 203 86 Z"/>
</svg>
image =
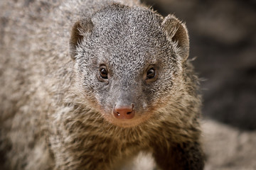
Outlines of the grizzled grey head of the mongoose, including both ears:
<svg viewBox="0 0 256 170">
<path fill-rule="evenodd" d="M 181 97 L 188 47 L 186 26 L 174 16 L 118 4 L 82 18 L 70 38 L 80 94 L 121 127 Z"/>
</svg>

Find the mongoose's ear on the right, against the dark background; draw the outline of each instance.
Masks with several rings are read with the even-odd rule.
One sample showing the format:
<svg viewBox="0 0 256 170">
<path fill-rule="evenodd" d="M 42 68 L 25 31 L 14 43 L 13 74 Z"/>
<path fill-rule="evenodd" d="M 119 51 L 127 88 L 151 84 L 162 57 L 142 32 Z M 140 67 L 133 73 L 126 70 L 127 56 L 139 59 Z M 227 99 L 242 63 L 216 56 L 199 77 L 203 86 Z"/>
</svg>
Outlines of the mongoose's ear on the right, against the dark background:
<svg viewBox="0 0 256 170">
<path fill-rule="evenodd" d="M 188 30 L 184 23 L 178 21 L 174 15 L 168 15 L 164 18 L 162 23 L 167 38 L 170 41 L 177 42 L 179 48 L 179 55 L 186 60 L 189 55 L 189 40 Z"/>
</svg>

